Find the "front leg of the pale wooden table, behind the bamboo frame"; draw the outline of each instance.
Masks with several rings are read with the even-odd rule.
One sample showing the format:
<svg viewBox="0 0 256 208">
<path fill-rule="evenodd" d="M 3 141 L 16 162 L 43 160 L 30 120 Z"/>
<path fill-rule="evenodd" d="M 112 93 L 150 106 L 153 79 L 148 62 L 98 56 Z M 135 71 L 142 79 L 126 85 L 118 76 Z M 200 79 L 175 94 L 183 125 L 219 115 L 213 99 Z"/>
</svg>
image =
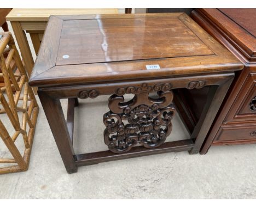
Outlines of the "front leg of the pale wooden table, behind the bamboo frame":
<svg viewBox="0 0 256 208">
<path fill-rule="evenodd" d="M 13 27 L 13 32 L 18 42 L 22 59 L 25 63 L 27 75 L 30 78 L 34 66 L 34 59 L 32 57 L 30 46 L 28 45 L 27 36 L 22 30 L 20 22 L 11 22 L 11 27 Z M 34 93 L 37 94 L 37 88 L 33 88 L 33 90 Z"/>
</svg>

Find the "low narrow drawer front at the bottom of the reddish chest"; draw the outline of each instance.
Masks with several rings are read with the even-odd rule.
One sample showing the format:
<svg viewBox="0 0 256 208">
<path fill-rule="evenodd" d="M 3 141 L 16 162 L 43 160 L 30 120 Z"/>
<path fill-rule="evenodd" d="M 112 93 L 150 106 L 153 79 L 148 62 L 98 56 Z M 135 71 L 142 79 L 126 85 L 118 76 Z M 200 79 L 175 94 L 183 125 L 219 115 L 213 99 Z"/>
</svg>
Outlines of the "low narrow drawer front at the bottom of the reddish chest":
<svg viewBox="0 0 256 208">
<path fill-rule="evenodd" d="M 256 140 L 256 123 L 220 127 L 214 141 Z"/>
</svg>

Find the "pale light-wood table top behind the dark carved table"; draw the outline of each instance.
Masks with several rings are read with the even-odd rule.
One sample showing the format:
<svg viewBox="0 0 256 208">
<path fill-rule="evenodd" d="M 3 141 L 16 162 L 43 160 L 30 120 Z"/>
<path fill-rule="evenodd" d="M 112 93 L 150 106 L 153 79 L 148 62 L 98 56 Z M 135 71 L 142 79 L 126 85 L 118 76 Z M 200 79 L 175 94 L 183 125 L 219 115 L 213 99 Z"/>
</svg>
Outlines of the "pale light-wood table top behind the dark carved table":
<svg viewBox="0 0 256 208">
<path fill-rule="evenodd" d="M 118 14 L 118 9 L 13 9 L 8 21 L 48 21 L 51 15 Z"/>
</svg>

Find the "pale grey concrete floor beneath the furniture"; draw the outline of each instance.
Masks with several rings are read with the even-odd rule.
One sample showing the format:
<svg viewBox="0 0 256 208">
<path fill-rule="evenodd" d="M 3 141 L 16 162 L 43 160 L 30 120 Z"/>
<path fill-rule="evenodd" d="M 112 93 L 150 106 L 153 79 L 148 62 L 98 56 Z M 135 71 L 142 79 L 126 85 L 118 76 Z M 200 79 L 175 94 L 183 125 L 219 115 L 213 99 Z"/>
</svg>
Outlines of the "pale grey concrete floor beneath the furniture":
<svg viewBox="0 0 256 208">
<path fill-rule="evenodd" d="M 106 102 L 106 96 L 83 100 L 79 110 L 75 110 L 77 153 L 106 149 L 102 135 Z M 65 100 L 62 105 L 65 110 Z M 0 117 L 8 125 L 7 118 L 3 114 Z M 176 115 L 168 140 L 185 138 L 188 133 Z M 8 156 L 1 142 L 0 157 Z M 20 149 L 24 146 L 21 138 L 16 142 Z M 253 144 L 212 147 L 206 155 L 171 152 L 106 162 L 67 174 L 40 107 L 30 168 L 26 172 L 0 175 L 0 198 L 251 199 L 256 198 L 255 164 L 256 144 Z"/>
</svg>

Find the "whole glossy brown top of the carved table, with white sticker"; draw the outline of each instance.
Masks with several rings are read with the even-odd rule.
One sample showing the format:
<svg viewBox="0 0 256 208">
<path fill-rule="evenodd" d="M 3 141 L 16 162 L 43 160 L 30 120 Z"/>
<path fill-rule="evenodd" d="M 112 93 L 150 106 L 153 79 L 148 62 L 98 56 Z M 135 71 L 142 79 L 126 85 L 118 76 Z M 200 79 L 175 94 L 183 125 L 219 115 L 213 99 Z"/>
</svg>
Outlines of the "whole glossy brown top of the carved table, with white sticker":
<svg viewBox="0 0 256 208">
<path fill-rule="evenodd" d="M 33 86 L 101 83 L 241 70 L 184 13 L 51 16 Z"/>
</svg>

